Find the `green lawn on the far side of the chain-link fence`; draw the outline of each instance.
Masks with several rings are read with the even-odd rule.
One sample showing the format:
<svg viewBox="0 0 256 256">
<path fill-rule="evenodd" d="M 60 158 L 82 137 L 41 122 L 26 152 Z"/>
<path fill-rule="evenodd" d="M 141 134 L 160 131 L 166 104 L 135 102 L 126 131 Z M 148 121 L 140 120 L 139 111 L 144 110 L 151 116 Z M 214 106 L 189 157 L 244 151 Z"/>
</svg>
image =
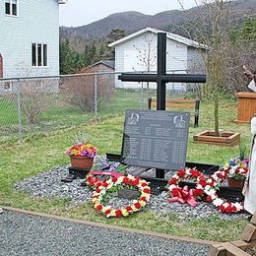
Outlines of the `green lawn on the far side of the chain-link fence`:
<svg viewBox="0 0 256 256">
<path fill-rule="evenodd" d="M 146 95 L 132 90 L 115 90 L 107 98 L 98 99 L 97 113 L 82 111 L 80 107 L 66 102 L 61 94 L 44 96 L 40 103 L 35 104 L 35 109 L 28 110 L 30 97 L 21 100 L 21 124 L 23 138 L 42 132 L 52 132 L 59 129 L 85 124 L 91 119 L 105 116 L 120 115 L 128 108 L 142 108 L 146 105 Z M 39 99 L 39 96 L 38 96 Z M 42 104 L 42 106 L 41 106 Z M 17 96 L 0 96 L 0 143 L 18 139 L 19 115 Z M 26 117 L 28 114 L 39 110 L 37 121 L 32 123 Z M 32 112 L 33 111 L 33 112 Z"/>
</svg>

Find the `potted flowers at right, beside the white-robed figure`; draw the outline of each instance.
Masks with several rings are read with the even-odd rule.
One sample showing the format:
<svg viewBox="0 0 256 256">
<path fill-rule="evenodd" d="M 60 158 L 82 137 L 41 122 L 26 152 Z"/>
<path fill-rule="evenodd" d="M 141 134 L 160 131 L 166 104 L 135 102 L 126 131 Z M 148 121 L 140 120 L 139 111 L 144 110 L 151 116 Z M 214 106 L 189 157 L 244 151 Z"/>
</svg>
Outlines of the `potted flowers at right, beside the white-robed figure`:
<svg viewBox="0 0 256 256">
<path fill-rule="evenodd" d="M 234 158 L 224 163 L 227 182 L 230 187 L 243 187 L 244 179 L 249 171 L 249 159 Z"/>
</svg>

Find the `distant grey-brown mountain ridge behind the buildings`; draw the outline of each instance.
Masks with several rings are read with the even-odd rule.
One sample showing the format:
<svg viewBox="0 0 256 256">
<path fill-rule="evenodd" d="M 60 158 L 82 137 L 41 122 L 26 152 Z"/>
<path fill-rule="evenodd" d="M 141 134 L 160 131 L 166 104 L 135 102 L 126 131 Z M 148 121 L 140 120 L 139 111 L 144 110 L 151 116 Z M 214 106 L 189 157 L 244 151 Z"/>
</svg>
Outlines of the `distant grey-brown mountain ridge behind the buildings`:
<svg viewBox="0 0 256 256">
<path fill-rule="evenodd" d="M 235 23 L 240 23 L 245 17 L 251 17 L 256 13 L 256 0 L 237 0 L 226 3 L 233 12 Z M 100 38 L 106 36 L 112 29 L 121 29 L 126 33 L 135 32 L 146 27 L 154 27 L 160 30 L 173 32 L 184 21 L 194 21 L 197 16 L 206 13 L 204 6 L 194 7 L 186 12 L 171 10 L 161 12 L 154 16 L 139 12 L 123 12 L 109 15 L 92 24 L 77 28 L 60 28 L 61 38 L 71 40 L 83 40 L 92 37 Z"/>
</svg>

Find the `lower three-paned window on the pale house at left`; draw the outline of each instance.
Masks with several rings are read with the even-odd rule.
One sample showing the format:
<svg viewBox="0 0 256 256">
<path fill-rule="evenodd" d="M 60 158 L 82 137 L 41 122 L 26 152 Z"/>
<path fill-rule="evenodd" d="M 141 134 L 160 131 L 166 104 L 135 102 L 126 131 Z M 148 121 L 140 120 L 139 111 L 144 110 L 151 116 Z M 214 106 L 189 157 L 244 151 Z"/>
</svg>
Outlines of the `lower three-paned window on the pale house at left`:
<svg viewBox="0 0 256 256">
<path fill-rule="evenodd" d="M 32 43 L 32 66 L 48 66 L 48 45 L 43 43 Z"/>
</svg>

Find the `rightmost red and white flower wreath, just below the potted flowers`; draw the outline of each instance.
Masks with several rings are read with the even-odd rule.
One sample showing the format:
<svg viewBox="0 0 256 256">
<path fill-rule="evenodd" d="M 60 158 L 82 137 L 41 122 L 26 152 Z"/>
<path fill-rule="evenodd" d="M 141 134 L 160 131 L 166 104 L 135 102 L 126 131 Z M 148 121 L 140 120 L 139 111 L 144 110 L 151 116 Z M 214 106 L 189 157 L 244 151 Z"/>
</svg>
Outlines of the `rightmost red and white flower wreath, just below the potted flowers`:
<svg viewBox="0 0 256 256">
<path fill-rule="evenodd" d="M 227 178 L 228 172 L 223 170 L 216 171 L 206 180 L 204 192 L 207 202 L 212 202 L 223 213 L 238 213 L 243 210 L 242 203 L 231 203 L 220 198 L 217 194 L 220 184 Z"/>
</svg>

